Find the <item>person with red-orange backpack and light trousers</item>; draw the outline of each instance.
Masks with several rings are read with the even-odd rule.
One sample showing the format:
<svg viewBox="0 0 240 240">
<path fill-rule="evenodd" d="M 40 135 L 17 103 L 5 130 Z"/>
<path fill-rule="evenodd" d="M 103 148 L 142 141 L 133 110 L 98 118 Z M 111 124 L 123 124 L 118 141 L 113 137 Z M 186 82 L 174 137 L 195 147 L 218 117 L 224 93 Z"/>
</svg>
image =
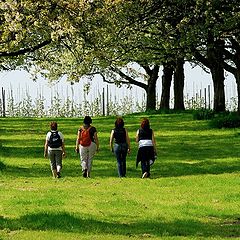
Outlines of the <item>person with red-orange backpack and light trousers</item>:
<svg viewBox="0 0 240 240">
<path fill-rule="evenodd" d="M 92 169 L 92 159 L 99 150 L 97 130 L 92 125 L 92 119 L 85 116 L 83 126 L 78 130 L 75 151 L 80 154 L 83 177 L 89 178 Z"/>
</svg>

